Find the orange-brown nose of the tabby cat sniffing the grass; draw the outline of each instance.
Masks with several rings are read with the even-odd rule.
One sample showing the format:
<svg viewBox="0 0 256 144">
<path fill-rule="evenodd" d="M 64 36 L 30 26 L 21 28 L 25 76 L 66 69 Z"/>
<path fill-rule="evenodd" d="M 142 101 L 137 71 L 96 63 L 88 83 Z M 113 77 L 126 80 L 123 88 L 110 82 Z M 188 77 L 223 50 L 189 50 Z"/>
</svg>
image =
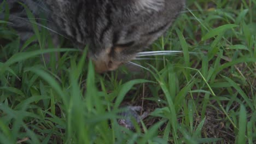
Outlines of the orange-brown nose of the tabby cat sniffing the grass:
<svg viewBox="0 0 256 144">
<path fill-rule="evenodd" d="M 121 62 L 113 62 L 113 61 L 92 61 L 95 65 L 95 71 L 97 73 L 104 73 L 106 71 L 115 70 L 119 67 Z"/>
</svg>

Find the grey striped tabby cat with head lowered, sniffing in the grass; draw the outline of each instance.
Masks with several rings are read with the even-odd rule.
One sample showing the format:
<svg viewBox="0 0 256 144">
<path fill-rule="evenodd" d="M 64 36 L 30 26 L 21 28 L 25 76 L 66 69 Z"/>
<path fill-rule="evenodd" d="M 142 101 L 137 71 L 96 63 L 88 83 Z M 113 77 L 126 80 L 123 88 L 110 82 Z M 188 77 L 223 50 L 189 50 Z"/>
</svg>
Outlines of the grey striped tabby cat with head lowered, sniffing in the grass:
<svg viewBox="0 0 256 144">
<path fill-rule="evenodd" d="M 7 0 L 9 21 L 21 40 L 33 34 L 24 7 Z M 115 70 L 164 34 L 185 0 L 20 0 L 38 17 L 44 13 L 51 31 L 89 45 L 88 56 L 99 73 Z"/>
</svg>

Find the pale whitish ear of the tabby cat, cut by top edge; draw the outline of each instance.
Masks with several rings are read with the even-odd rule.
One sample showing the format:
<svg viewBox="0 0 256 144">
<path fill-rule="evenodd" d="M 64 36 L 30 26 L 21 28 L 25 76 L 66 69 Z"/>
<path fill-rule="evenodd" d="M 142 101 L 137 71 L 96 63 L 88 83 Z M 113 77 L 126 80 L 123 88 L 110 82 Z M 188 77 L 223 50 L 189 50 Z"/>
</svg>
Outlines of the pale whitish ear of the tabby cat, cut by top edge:
<svg viewBox="0 0 256 144">
<path fill-rule="evenodd" d="M 165 5 L 165 0 L 132 0 L 137 10 L 159 11 Z M 167 0 L 170 1 L 170 0 Z"/>
</svg>

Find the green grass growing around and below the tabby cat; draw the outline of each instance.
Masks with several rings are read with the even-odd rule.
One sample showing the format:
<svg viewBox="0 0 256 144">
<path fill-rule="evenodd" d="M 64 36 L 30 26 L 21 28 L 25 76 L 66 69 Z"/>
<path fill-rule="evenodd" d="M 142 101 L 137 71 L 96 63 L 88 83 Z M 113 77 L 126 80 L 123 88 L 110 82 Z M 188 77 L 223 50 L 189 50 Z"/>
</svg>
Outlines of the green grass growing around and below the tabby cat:
<svg viewBox="0 0 256 144">
<path fill-rule="evenodd" d="M 86 49 L 54 49 L 36 25 L 19 49 L 1 20 L 0 143 L 255 143 L 255 9 L 255 0 L 188 1 L 152 45 L 183 54 L 135 61 L 149 69 L 140 79 L 124 67 L 96 74 Z M 125 102 L 152 111 L 135 131 L 117 122 Z"/>
</svg>

